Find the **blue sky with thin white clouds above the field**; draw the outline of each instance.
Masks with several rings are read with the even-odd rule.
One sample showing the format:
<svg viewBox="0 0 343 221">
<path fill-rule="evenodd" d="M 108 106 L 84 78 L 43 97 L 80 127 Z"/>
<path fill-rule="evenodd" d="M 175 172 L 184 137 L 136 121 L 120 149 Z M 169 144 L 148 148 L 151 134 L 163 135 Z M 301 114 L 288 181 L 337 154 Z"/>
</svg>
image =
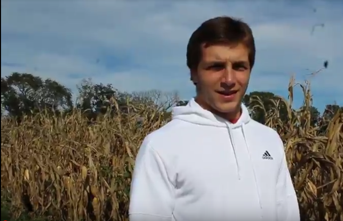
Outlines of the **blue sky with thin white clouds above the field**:
<svg viewBox="0 0 343 221">
<path fill-rule="evenodd" d="M 2 0 L 1 76 L 26 72 L 77 93 L 91 78 L 121 91 L 195 95 L 188 40 L 216 16 L 247 22 L 256 61 L 247 92 L 287 98 L 289 78 L 311 81 L 313 105 L 343 105 L 343 1 Z M 318 24 L 324 23 L 324 27 Z M 315 26 L 314 32 L 312 27 Z M 315 76 L 309 73 L 323 67 Z M 295 105 L 301 105 L 300 87 Z"/>
</svg>

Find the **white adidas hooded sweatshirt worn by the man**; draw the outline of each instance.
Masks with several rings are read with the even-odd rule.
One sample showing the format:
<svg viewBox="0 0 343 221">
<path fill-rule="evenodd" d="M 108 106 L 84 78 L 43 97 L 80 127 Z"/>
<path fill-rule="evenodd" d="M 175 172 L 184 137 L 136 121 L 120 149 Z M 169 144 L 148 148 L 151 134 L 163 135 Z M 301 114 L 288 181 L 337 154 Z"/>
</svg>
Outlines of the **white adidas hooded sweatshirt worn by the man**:
<svg viewBox="0 0 343 221">
<path fill-rule="evenodd" d="M 235 124 L 192 99 L 149 134 L 131 182 L 130 221 L 299 221 L 283 143 L 250 118 Z"/>
</svg>

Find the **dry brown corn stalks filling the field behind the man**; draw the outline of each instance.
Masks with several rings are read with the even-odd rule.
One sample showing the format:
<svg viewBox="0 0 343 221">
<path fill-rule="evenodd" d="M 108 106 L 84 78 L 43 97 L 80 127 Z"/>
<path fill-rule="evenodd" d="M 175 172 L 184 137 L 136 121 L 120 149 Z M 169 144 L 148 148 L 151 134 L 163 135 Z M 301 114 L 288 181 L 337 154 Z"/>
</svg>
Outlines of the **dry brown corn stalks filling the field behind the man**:
<svg viewBox="0 0 343 221">
<path fill-rule="evenodd" d="M 285 143 L 302 220 L 343 221 L 343 113 L 310 126 L 309 85 L 301 85 L 299 110 L 292 108 L 294 86 L 292 79 L 289 99 L 274 102 L 267 124 Z M 280 108 L 288 110 L 286 122 Z M 165 112 L 144 104 L 135 109 L 103 115 L 92 124 L 78 111 L 66 117 L 41 113 L 20 125 L 2 120 L 1 184 L 11 211 L 54 220 L 128 220 L 135 155 L 143 138 L 165 124 Z M 138 117 L 143 119 L 139 127 Z"/>
</svg>

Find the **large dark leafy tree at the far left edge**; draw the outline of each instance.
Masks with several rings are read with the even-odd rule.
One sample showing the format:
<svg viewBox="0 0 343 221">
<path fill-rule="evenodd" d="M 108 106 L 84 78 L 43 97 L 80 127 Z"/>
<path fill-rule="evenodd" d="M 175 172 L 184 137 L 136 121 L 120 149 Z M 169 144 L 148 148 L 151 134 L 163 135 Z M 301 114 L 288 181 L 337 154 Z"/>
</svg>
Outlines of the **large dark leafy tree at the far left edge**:
<svg viewBox="0 0 343 221">
<path fill-rule="evenodd" d="M 59 112 L 72 108 L 72 94 L 70 89 L 51 79 L 13 72 L 1 79 L 1 102 L 2 108 L 12 116 L 40 110 Z"/>
</svg>

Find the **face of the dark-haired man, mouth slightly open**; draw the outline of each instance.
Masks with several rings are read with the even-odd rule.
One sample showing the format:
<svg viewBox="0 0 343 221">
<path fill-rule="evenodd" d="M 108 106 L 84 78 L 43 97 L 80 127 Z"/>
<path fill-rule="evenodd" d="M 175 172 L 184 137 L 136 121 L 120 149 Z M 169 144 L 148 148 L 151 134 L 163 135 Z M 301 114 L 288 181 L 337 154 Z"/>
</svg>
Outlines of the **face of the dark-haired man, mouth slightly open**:
<svg viewBox="0 0 343 221">
<path fill-rule="evenodd" d="M 250 79 L 248 55 L 243 44 L 202 47 L 202 59 L 191 75 L 203 108 L 226 116 L 240 112 Z"/>
</svg>

